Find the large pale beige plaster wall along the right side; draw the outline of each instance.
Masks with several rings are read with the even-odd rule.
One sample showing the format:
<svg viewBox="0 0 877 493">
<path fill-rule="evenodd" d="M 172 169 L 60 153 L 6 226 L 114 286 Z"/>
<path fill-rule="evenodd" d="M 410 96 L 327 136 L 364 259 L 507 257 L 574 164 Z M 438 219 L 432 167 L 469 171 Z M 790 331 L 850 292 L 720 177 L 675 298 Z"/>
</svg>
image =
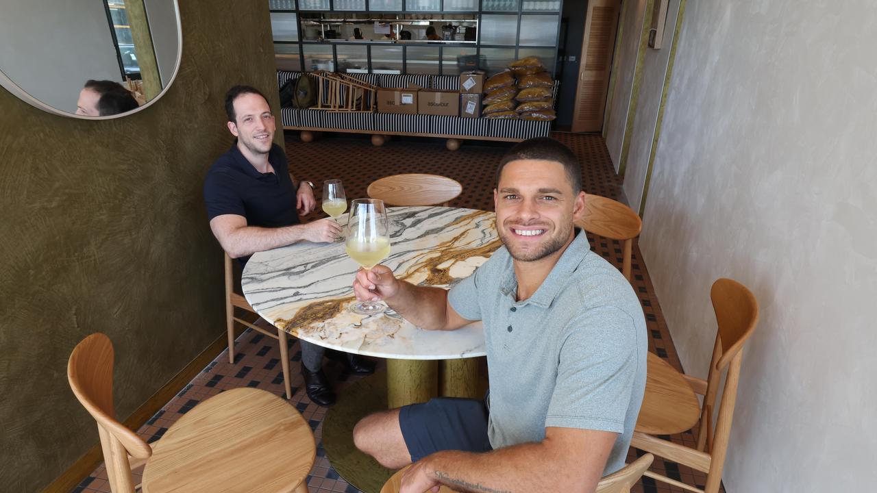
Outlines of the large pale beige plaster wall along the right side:
<svg viewBox="0 0 877 493">
<path fill-rule="evenodd" d="M 724 482 L 865 491 L 877 456 L 877 9 L 688 2 L 639 245 L 685 368 L 759 299 Z"/>
</svg>

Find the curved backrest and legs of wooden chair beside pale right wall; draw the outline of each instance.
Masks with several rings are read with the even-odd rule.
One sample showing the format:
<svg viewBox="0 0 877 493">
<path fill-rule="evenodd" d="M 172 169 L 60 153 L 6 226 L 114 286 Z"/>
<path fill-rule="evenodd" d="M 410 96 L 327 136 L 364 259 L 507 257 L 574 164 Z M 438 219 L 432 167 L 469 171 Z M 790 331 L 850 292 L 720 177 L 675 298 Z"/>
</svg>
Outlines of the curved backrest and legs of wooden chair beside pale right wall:
<svg viewBox="0 0 877 493">
<path fill-rule="evenodd" d="M 718 323 L 716 344 L 713 347 L 712 360 L 709 362 L 709 375 L 707 380 L 684 375 L 691 388 L 704 396 L 701 418 L 697 425 L 697 448 L 684 447 L 643 432 L 633 432 L 631 441 L 632 447 L 706 473 L 707 482 L 704 489 L 697 489 L 652 471 L 645 473 L 658 481 L 699 493 L 717 493 L 722 482 L 722 468 L 728 451 L 728 439 L 731 436 L 731 419 L 737 401 L 740 362 L 743 359 L 741 350 L 746 340 L 752 336 L 759 319 L 758 302 L 749 289 L 739 282 L 719 279 L 713 283 L 709 297 L 712 299 Z M 727 376 L 714 430 L 713 411 L 716 409 L 716 394 L 722 373 L 726 373 Z"/>
</svg>

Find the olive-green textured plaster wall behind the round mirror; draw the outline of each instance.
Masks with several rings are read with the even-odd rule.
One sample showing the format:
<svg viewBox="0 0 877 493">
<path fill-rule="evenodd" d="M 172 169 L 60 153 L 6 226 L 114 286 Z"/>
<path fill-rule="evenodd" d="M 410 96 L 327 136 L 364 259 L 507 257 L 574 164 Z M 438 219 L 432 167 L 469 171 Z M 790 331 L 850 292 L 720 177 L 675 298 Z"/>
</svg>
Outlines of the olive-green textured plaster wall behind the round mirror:
<svg viewBox="0 0 877 493">
<path fill-rule="evenodd" d="M 267 2 L 180 4 L 180 72 L 144 111 L 61 118 L 0 89 L 4 491 L 43 488 L 98 442 L 68 388 L 80 339 L 115 344 L 126 418 L 225 330 L 201 186 L 232 144 L 225 90 L 252 83 L 279 106 L 271 28 Z"/>
</svg>

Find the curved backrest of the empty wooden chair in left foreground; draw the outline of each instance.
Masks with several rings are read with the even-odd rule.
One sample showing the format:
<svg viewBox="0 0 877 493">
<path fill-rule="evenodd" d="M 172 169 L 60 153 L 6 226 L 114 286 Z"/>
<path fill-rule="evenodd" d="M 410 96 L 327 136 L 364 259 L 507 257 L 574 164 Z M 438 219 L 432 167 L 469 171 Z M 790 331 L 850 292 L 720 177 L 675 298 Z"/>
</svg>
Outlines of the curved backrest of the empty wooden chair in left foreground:
<svg viewBox="0 0 877 493">
<path fill-rule="evenodd" d="M 153 449 L 114 417 L 113 358 L 110 338 L 99 332 L 93 333 L 82 339 L 70 354 L 67 379 L 76 399 L 97 422 L 112 491 L 128 493 L 134 490 L 128 454 L 147 459 L 153 454 Z"/>
</svg>

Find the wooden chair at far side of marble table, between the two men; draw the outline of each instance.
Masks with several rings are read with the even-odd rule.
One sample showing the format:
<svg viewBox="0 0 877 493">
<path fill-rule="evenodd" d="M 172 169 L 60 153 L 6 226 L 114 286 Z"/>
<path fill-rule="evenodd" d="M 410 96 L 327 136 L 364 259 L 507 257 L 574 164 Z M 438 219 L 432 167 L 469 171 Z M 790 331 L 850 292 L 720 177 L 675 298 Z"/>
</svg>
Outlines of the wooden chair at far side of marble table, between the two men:
<svg viewBox="0 0 877 493">
<path fill-rule="evenodd" d="M 446 176 L 412 173 L 375 180 L 368 185 L 367 194 L 371 198 L 381 199 L 387 205 L 447 206 L 462 191 L 460 182 Z"/>
</svg>

